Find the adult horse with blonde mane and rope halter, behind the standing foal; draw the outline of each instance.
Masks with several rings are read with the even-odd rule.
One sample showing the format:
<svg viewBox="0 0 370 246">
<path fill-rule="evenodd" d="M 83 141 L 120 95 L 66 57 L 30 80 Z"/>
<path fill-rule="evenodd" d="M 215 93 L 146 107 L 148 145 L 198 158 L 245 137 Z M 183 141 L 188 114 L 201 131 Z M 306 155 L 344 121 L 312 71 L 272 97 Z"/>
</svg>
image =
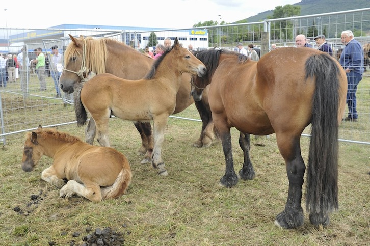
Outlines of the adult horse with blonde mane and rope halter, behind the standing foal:
<svg viewBox="0 0 370 246">
<path fill-rule="evenodd" d="M 138 80 L 150 72 L 154 62 L 153 59 L 112 38 L 93 39 L 92 37 L 74 38 L 69 36 L 72 42 L 64 53 L 64 71 L 60 78 L 60 86 L 64 92 L 73 93 L 74 87 L 85 82 L 90 72 L 95 74 L 111 73 L 120 78 Z M 184 73 L 181 76 L 180 88 L 176 95 L 176 107 L 172 114 L 183 111 L 194 102 L 193 98 L 190 97 L 190 79 L 190 74 Z M 196 107 L 203 108 L 204 100 L 206 100 L 206 96 L 195 103 Z M 199 110 L 199 112 L 203 111 Z M 215 138 L 213 128 L 208 127 L 211 130 L 203 130 L 212 115 L 205 111 L 200 117 L 203 122 L 202 131 L 194 146 L 209 146 Z M 151 125 L 149 122 L 141 121 L 134 121 L 134 125 L 142 139 L 139 153 L 146 153 L 143 162 L 150 161 L 149 152 L 153 149 Z M 86 128 L 87 138 L 91 139 L 90 135 L 95 136 L 95 134 L 95 122 L 90 119 Z"/>
</svg>

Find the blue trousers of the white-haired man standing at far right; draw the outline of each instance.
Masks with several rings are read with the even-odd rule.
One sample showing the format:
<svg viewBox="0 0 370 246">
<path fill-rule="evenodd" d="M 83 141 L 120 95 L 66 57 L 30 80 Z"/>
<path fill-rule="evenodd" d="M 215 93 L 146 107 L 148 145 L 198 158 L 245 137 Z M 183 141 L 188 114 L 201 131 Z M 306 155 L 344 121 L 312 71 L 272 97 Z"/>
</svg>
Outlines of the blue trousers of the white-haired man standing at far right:
<svg viewBox="0 0 370 246">
<path fill-rule="evenodd" d="M 358 114 L 356 111 L 356 91 L 357 85 L 360 83 L 362 75 L 359 73 L 347 73 L 347 105 L 348 105 L 348 118 L 357 119 Z"/>
</svg>

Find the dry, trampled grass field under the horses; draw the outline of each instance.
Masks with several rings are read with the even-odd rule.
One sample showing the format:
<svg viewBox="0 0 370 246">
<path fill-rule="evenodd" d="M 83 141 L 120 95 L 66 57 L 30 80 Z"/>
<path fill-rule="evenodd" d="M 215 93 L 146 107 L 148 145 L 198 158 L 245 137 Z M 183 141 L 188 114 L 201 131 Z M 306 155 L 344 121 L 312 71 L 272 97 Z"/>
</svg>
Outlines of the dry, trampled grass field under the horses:
<svg viewBox="0 0 370 246">
<path fill-rule="evenodd" d="M 366 89 L 358 97 L 363 98 L 359 107 L 368 113 L 370 83 L 366 81 Z M 199 118 L 194 105 L 177 116 Z M 361 121 L 356 123 L 343 122 L 341 130 L 350 132 L 356 126 L 367 129 L 368 134 L 366 124 L 370 120 L 362 120 L 366 117 L 369 116 L 361 115 Z M 41 172 L 52 163 L 50 158 L 42 157 L 31 173 L 22 171 L 24 136 L 10 136 L 0 150 L 1 244 L 48 245 L 52 241 L 55 245 L 72 245 L 74 241 L 74 245 L 82 245 L 86 228 L 105 227 L 124 233 L 125 245 L 369 244 L 369 145 L 339 144 L 339 209 L 331 214 L 330 226 L 314 228 L 305 213 L 306 222 L 301 228 L 284 230 L 274 225 L 275 216 L 284 208 L 288 189 L 275 136 L 251 138 L 255 179 L 240 180 L 233 188 L 223 188 L 219 186 L 225 171 L 220 141 L 207 149 L 192 147 L 200 127 L 197 121 L 169 119 L 163 145 L 169 176 L 161 177 L 150 165 L 140 164 L 142 156 L 137 155 L 137 150 L 141 143 L 134 125 L 112 119 L 112 147 L 127 156 L 133 181 L 126 195 L 100 203 L 80 197 L 59 198 L 59 189 L 41 180 Z M 84 139 L 84 128 L 66 125 L 58 129 Z M 243 163 L 238 135 L 232 129 L 235 171 Z M 301 138 L 305 161 L 308 143 L 309 138 Z"/>
</svg>

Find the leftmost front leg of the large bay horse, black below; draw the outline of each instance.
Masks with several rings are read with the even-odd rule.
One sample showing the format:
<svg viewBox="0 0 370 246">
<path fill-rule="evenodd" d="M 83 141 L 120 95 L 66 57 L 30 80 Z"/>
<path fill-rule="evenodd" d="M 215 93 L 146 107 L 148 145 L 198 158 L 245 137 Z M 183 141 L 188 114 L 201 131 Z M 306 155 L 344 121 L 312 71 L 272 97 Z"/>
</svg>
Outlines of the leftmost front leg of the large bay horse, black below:
<svg viewBox="0 0 370 246">
<path fill-rule="evenodd" d="M 237 175 L 234 171 L 234 161 L 232 158 L 230 128 L 226 125 L 222 127 L 218 126 L 217 128 L 220 131 L 222 149 L 224 151 L 226 162 L 225 175 L 220 179 L 220 184 L 230 188 L 237 184 Z"/>
</svg>

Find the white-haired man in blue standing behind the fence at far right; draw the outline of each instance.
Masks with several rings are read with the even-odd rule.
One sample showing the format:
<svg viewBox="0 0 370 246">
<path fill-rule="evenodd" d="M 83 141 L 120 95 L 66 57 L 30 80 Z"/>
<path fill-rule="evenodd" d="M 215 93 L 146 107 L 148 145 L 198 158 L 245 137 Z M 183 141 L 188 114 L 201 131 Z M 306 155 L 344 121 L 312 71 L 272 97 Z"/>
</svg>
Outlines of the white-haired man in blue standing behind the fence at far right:
<svg viewBox="0 0 370 246">
<path fill-rule="evenodd" d="M 347 75 L 347 105 L 348 116 L 344 121 L 357 121 L 358 114 L 356 111 L 356 91 L 363 74 L 363 51 L 361 44 L 354 39 L 351 30 L 343 31 L 341 42 L 345 45 L 339 63 Z"/>
</svg>

